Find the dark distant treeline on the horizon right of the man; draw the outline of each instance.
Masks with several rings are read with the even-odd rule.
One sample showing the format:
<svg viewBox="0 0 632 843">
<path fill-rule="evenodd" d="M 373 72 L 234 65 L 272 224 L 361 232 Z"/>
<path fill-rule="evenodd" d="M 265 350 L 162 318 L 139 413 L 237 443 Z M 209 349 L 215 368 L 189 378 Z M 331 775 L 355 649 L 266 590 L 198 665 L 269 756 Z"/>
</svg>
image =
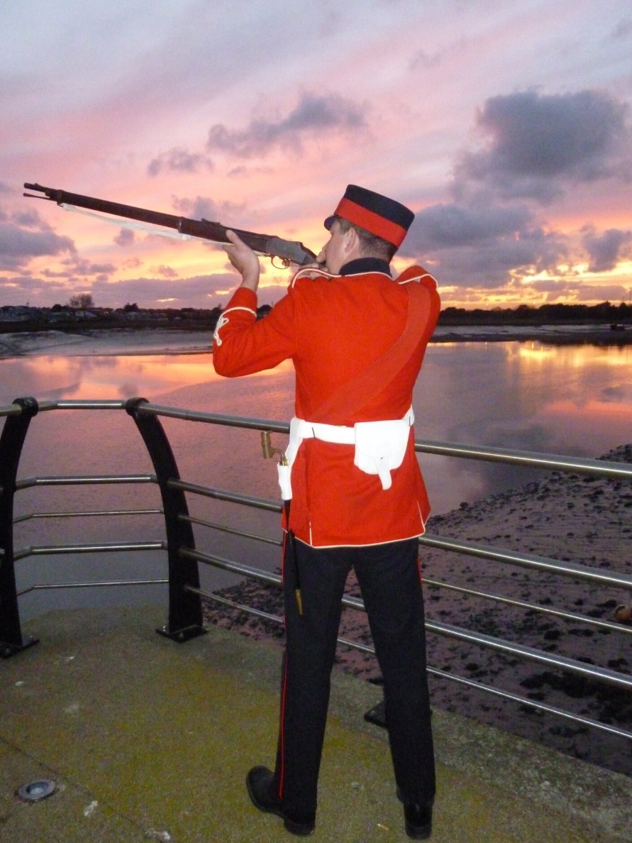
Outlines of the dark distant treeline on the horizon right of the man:
<svg viewBox="0 0 632 843">
<path fill-rule="evenodd" d="M 632 304 L 542 304 L 532 308 L 444 308 L 439 325 L 632 325 Z"/>
</svg>

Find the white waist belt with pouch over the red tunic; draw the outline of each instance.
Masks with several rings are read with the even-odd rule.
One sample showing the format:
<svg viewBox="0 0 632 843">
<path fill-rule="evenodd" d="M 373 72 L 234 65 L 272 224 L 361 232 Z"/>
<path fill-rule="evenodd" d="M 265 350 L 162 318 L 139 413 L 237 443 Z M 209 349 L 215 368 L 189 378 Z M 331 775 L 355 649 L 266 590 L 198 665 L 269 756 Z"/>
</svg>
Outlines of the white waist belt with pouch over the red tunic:
<svg viewBox="0 0 632 843">
<path fill-rule="evenodd" d="M 292 465 L 303 439 L 321 439 L 338 445 L 355 445 L 354 465 L 365 474 L 378 475 L 382 488 L 391 487 L 391 471 L 404 461 L 410 427 L 415 422 L 412 407 L 402 419 L 357 421 L 353 427 L 304 421 L 296 416 L 290 421 L 287 465 L 279 465 L 279 486 L 284 501 L 292 500 Z"/>
</svg>

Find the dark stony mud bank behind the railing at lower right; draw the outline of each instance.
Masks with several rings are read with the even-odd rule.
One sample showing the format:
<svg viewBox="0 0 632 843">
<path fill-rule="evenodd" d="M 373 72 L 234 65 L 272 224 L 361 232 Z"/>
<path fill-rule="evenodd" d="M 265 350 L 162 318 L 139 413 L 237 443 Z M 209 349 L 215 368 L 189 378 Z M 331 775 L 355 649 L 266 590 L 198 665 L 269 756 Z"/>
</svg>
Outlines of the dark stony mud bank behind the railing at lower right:
<svg viewBox="0 0 632 843">
<path fill-rule="evenodd" d="M 604 459 L 632 463 L 632 445 Z M 536 556 L 573 561 L 604 571 L 632 574 L 632 482 L 595 479 L 586 475 L 543 475 L 537 483 L 506 491 L 473 505 L 431 518 L 428 533 L 473 541 L 480 545 L 521 550 Z M 426 581 L 451 583 L 501 595 L 569 615 L 613 623 L 614 629 L 589 626 L 579 617 L 543 615 L 528 607 L 498 603 L 469 593 L 450 591 L 426 582 L 426 618 L 461 626 L 490 636 L 536 647 L 552 655 L 594 663 L 632 674 L 632 626 L 614 620 L 618 604 L 629 604 L 624 589 L 586 583 L 551 573 L 446 553 L 422 547 Z M 358 595 L 350 577 L 348 591 Z M 222 594 L 240 604 L 256 605 L 282 615 L 277 588 L 244 583 Z M 244 635 L 283 643 L 282 630 L 210 603 L 206 618 Z M 340 636 L 371 643 L 366 615 L 345 609 Z M 575 712 L 581 717 L 615 724 L 632 732 L 632 692 L 596 685 L 554 666 L 505 656 L 437 633 L 428 636 L 428 662 L 447 674 L 472 679 L 499 690 Z M 338 648 L 340 669 L 369 678 L 379 676 L 371 655 Z M 597 765 L 632 775 L 632 741 L 597 732 L 580 723 L 555 717 L 499 696 L 431 675 L 433 706 L 458 711 L 480 722 L 553 746 Z"/>
</svg>

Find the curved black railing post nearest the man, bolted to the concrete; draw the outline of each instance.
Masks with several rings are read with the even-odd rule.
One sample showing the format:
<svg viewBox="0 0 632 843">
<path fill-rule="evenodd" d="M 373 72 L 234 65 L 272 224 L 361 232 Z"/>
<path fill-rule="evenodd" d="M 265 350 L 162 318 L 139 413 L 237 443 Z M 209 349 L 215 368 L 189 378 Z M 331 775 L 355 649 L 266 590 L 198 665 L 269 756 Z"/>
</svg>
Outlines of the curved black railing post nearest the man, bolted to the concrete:
<svg viewBox="0 0 632 843">
<path fill-rule="evenodd" d="M 169 623 L 158 628 L 158 632 L 174 641 L 184 642 L 206 632 L 202 623 L 201 596 L 190 590 L 200 588 L 197 562 L 180 555 L 182 547 L 195 550 L 195 539 L 190 521 L 186 520 L 189 508 L 185 493 L 169 486 L 170 480 L 179 480 L 178 465 L 169 439 L 158 417 L 141 411 L 143 404 L 147 404 L 147 399 L 130 398 L 125 402 L 125 409 L 136 421 L 163 498 L 169 560 Z"/>
</svg>

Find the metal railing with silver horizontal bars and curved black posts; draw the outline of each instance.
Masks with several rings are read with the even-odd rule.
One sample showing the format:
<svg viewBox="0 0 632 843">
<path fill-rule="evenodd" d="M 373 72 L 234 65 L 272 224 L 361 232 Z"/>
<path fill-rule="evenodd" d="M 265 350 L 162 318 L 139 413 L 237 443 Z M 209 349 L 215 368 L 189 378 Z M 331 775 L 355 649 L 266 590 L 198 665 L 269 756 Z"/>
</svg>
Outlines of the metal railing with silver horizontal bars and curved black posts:
<svg viewBox="0 0 632 843">
<path fill-rule="evenodd" d="M 34 416 L 41 411 L 51 410 L 121 410 L 124 409 L 135 421 L 147 451 L 152 459 L 154 474 L 152 475 L 97 475 L 97 476 L 63 476 L 40 477 L 17 480 L 19 457 L 29 424 Z M 144 399 L 130 399 L 127 401 L 87 401 L 87 400 L 59 400 L 46 401 L 38 404 L 34 399 L 24 398 L 16 400 L 9 407 L 0 408 L 0 416 L 6 416 L 6 421 L 0 437 L 0 655 L 9 656 L 19 652 L 24 647 L 35 643 L 34 639 L 25 640 L 19 623 L 18 598 L 15 587 L 14 562 L 26 556 L 38 554 L 67 554 L 100 552 L 103 550 L 166 550 L 168 556 L 169 577 L 167 579 L 138 579 L 128 581 L 105 581 L 98 583 L 58 583 L 55 585 L 35 584 L 24 589 L 20 594 L 41 588 L 88 588 L 122 584 L 169 583 L 169 620 L 166 626 L 158 630 L 175 641 L 185 641 L 192 636 L 201 635 L 205 629 L 202 618 L 202 599 L 208 599 L 240 612 L 247 612 L 264 620 L 278 624 L 281 617 L 265 612 L 253 606 L 238 604 L 217 593 L 208 593 L 201 589 L 198 564 L 214 566 L 219 570 L 248 577 L 259 583 L 274 587 L 281 586 L 281 577 L 276 573 L 266 572 L 260 568 L 245 565 L 238 560 L 231 560 L 213 553 L 198 550 L 195 547 L 193 525 L 223 531 L 234 536 L 244 537 L 271 545 L 281 545 L 281 540 L 270 539 L 264 535 L 240 529 L 238 527 L 217 524 L 204 518 L 192 517 L 189 513 L 185 494 L 199 497 L 214 498 L 220 501 L 232 502 L 239 507 L 252 507 L 270 513 L 280 513 L 280 502 L 261 497 L 252 497 L 236 491 L 201 486 L 190 481 L 181 480 L 174 454 L 169 444 L 159 417 L 169 417 L 181 421 L 197 421 L 205 424 L 220 425 L 222 427 L 237 427 L 261 432 L 277 432 L 287 434 L 289 425 L 283 421 L 269 419 L 247 418 L 242 416 L 226 416 L 217 413 L 190 411 L 174 407 L 153 405 Z M 533 454 L 504 448 L 479 448 L 472 445 L 458 443 L 441 443 L 419 440 L 415 441 L 415 449 L 427 454 L 441 454 L 443 456 L 462 459 L 481 459 L 509 464 L 519 464 L 546 470 L 572 472 L 573 474 L 592 475 L 596 477 L 632 481 L 632 464 L 608 462 L 595 459 L 577 459 L 550 454 Z M 158 484 L 162 496 L 162 509 L 136 510 L 99 510 L 63 513 L 29 513 L 17 518 L 13 515 L 13 497 L 17 491 L 31 486 L 55 485 L 89 485 L 89 484 L 120 484 L 120 483 L 155 483 Z M 74 518 L 81 516 L 105 516 L 112 514 L 160 513 L 164 517 L 165 539 L 161 541 L 76 544 L 76 545 L 42 545 L 13 550 L 13 524 L 21 523 L 29 518 Z M 506 550 L 503 548 L 479 545 L 474 542 L 455 540 L 450 537 L 424 534 L 420 537 L 420 545 L 439 550 L 450 551 L 465 556 L 474 556 L 494 561 L 499 566 L 519 566 L 536 574 L 547 572 L 563 577 L 573 577 L 586 583 L 601 583 L 612 588 L 625 588 L 632 593 L 632 576 L 624 572 L 604 571 L 603 568 L 580 565 L 572 561 L 560 561 L 530 553 Z M 564 609 L 554 609 L 549 606 L 511 599 L 503 595 L 486 593 L 453 583 L 426 579 L 429 588 L 445 588 L 458 593 L 468 594 L 479 599 L 485 599 L 501 605 L 511 605 L 519 609 L 542 613 L 544 616 L 570 620 L 575 623 L 586 624 L 599 630 L 616 632 L 621 635 L 632 633 L 631 626 L 622 626 L 598 618 L 579 615 Z M 345 607 L 364 610 L 361 599 L 345 596 Z M 463 644 L 475 644 L 493 652 L 504 653 L 512 658 L 520 658 L 532 663 L 556 668 L 565 673 L 575 674 L 583 679 L 591 679 L 627 691 L 632 690 L 632 675 L 619 670 L 604 668 L 586 663 L 580 659 L 567 658 L 560 654 L 547 652 L 536 647 L 528 647 L 518 642 L 512 642 L 497 636 L 486 635 L 460 626 L 443 623 L 437 620 L 426 620 L 426 631 L 439 636 L 447 636 Z M 373 648 L 362 642 L 353 642 L 339 638 L 339 642 L 356 648 L 362 652 L 374 652 Z M 608 733 L 614 733 L 624 738 L 632 738 L 632 732 L 619 728 L 611 723 L 599 722 L 576 713 L 549 706 L 541 701 L 535 701 L 508 690 L 485 685 L 474 679 L 468 679 L 445 670 L 429 666 L 429 673 L 448 679 L 460 685 L 467 685 L 478 690 L 484 690 L 492 695 L 515 701 L 524 706 L 530 706 L 539 711 L 546 711 L 564 717 L 574 722 Z"/>
</svg>

